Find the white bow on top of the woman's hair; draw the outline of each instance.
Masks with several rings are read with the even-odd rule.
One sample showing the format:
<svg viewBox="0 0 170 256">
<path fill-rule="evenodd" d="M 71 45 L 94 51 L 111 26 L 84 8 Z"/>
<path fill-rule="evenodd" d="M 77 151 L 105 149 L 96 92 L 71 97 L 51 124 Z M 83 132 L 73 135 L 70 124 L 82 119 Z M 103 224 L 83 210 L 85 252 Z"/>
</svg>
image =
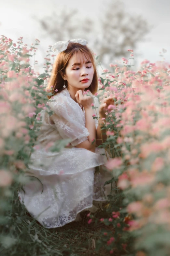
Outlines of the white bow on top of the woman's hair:
<svg viewBox="0 0 170 256">
<path fill-rule="evenodd" d="M 82 45 L 88 44 L 88 42 L 85 39 L 78 38 L 78 39 L 68 40 L 66 42 L 59 41 L 57 43 L 54 43 L 52 45 L 51 49 L 53 50 L 53 52 L 55 52 L 56 49 L 58 50 L 58 52 L 63 52 L 64 50 L 67 49 L 67 46 L 68 46 L 69 42 L 71 42 L 71 43 L 80 43 Z"/>
</svg>

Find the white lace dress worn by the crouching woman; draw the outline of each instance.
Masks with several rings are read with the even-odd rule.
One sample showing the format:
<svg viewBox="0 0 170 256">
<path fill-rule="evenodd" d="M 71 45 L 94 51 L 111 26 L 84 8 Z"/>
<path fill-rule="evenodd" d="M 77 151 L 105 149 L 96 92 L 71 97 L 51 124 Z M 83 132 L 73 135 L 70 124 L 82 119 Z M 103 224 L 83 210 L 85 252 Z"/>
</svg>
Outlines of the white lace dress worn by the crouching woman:
<svg viewBox="0 0 170 256">
<path fill-rule="evenodd" d="M 98 99 L 94 98 L 96 106 Z M 45 228 L 62 227 L 74 221 L 79 212 L 92 207 L 93 200 L 105 201 L 103 187 L 106 155 L 103 148 L 95 153 L 75 146 L 85 141 L 85 111 L 70 96 L 67 88 L 48 101 L 53 115 L 41 111 L 42 126 L 37 141 L 41 145 L 31 155 L 30 180 L 18 196 L 28 212 Z M 98 110 L 98 109 L 96 109 Z M 96 121 L 96 128 L 98 120 Z M 71 147 L 61 152 L 46 149 L 49 142 L 71 139 Z M 103 166 L 102 166 L 103 165 Z M 95 167 L 100 166 L 99 173 Z"/>
</svg>

